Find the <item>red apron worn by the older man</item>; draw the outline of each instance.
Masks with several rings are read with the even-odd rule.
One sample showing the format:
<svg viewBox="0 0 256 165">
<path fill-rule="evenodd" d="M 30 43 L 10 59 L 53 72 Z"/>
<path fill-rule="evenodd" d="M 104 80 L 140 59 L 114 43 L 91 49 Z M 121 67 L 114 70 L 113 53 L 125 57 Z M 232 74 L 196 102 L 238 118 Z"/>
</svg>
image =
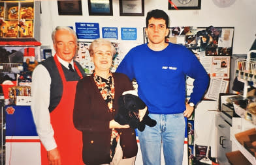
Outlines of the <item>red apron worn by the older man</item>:
<svg viewBox="0 0 256 165">
<path fill-rule="evenodd" d="M 61 64 L 57 60 L 57 55 L 54 56 L 54 60 L 63 82 L 63 94 L 59 105 L 50 113 L 50 119 L 57 149 L 61 155 L 61 165 L 84 164 L 82 160 L 82 132 L 75 129 L 73 123 L 74 97 L 78 81 L 66 81 Z M 75 63 L 74 68 L 82 79 L 82 74 Z M 41 162 L 42 165 L 48 164 L 47 152 L 42 144 Z"/>
</svg>

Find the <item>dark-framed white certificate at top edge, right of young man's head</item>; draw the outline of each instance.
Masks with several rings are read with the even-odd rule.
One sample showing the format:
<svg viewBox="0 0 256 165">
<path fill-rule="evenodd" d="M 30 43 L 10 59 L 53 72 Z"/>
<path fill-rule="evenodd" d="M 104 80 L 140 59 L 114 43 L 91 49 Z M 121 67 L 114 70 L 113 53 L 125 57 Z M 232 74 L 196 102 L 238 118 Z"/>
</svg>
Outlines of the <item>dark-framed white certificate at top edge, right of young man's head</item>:
<svg viewBox="0 0 256 165">
<path fill-rule="evenodd" d="M 168 0 L 168 10 L 191 10 L 201 8 L 201 0 Z"/>
</svg>

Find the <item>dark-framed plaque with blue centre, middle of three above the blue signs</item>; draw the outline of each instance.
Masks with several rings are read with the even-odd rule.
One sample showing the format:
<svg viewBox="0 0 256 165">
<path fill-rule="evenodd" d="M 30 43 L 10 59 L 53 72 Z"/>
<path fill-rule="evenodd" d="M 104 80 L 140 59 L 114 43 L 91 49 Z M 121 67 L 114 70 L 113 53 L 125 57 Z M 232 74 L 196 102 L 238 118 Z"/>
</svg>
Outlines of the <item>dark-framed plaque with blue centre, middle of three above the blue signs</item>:
<svg viewBox="0 0 256 165">
<path fill-rule="evenodd" d="M 112 0 L 88 0 L 89 16 L 113 16 Z"/>
</svg>

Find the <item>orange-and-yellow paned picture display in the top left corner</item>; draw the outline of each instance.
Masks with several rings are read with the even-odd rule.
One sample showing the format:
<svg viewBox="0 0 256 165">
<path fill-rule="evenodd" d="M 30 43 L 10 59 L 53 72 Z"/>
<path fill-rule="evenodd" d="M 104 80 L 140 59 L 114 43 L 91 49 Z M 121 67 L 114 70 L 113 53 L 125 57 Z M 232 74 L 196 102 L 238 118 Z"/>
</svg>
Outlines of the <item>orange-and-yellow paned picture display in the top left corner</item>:
<svg viewBox="0 0 256 165">
<path fill-rule="evenodd" d="M 0 38 L 40 40 L 40 1 L 0 1 Z"/>
</svg>

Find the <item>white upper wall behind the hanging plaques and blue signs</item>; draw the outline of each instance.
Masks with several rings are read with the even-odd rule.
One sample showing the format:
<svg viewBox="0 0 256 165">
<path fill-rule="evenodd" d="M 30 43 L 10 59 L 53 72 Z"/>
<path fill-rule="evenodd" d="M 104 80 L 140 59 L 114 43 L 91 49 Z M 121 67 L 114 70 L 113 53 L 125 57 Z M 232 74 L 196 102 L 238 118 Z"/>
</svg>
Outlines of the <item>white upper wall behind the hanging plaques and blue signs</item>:
<svg viewBox="0 0 256 165">
<path fill-rule="evenodd" d="M 82 0 L 83 16 L 58 16 L 57 1 L 45 0 L 42 3 L 40 42 L 51 45 L 51 32 L 57 25 L 73 26 L 75 22 L 99 23 L 101 27 L 136 27 L 138 40 L 143 43 L 143 29 L 146 26 L 146 13 L 159 8 L 170 16 L 170 27 L 234 27 L 233 54 L 246 54 L 255 40 L 256 0 L 236 0 L 227 7 L 219 8 L 212 0 L 202 0 L 200 10 L 168 10 L 168 0 L 144 0 L 145 16 L 119 16 L 119 1 L 113 0 L 113 16 L 89 16 L 88 0 Z M 100 29 L 101 31 L 101 29 Z M 119 38 L 121 35 L 119 34 Z M 120 39 L 114 42 L 123 42 Z M 131 42 L 131 41 L 125 41 Z"/>
</svg>

